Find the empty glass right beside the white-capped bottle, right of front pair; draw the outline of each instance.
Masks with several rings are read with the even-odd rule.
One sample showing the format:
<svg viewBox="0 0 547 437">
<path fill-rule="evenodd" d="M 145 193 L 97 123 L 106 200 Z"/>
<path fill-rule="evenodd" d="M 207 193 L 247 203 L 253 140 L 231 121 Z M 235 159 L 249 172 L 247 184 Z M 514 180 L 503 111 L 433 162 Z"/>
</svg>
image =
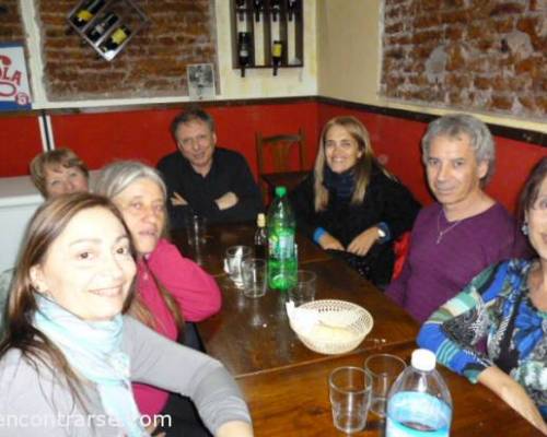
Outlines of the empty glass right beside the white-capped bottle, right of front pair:
<svg viewBox="0 0 547 437">
<path fill-rule="evenodd" d="M 371 411 L 380 417 L 385 417 L 387 393 L 406 366 L 403 359 L 392 354 L 374 354 L 365 359 L 364 370 L 372 380 Z"/>
</svg>

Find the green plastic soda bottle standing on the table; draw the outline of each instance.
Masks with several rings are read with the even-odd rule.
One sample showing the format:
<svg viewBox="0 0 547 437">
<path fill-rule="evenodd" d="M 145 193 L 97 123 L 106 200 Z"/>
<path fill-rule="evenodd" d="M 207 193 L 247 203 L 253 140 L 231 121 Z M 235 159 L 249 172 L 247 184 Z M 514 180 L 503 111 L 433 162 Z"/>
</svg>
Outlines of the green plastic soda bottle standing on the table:
<svg viewBox="0 0 547 437">
<path fill-rule="evenodd" d="M 296 222 L 287 188 L 276 187 L 276 198 L 268 211 L 268 286 L 288 291 L 296 284 Z"/>
</svg>

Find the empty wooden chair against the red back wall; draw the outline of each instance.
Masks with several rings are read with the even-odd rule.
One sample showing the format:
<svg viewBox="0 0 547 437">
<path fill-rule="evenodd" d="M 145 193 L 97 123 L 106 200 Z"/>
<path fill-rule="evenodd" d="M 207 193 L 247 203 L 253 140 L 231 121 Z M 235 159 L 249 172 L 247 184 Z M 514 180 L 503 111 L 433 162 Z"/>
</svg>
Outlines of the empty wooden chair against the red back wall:
<svg viewBox="0 0 547 437">
<path fill-rule="evenodd" d="M 298 151 L 298 168 L 291 156 Z M 258 162 L 258 179 L 263 190 L 265 204 L 268 204 L 269 194 L 276 186 L 282 185 L 288 190 L 296 187 L 306 176 L 305 172 L 305 134 L 303 129 L 299 133 L 281 133 L 272 137 L 263 137 L 256 133 L 256 156 Z"/>
</svg>

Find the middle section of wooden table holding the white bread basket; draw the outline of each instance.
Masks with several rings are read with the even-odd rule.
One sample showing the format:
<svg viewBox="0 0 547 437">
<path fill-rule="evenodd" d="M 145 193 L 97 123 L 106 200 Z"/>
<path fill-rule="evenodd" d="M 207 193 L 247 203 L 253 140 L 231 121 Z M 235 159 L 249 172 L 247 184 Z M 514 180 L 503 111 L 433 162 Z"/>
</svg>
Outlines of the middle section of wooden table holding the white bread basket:
<svg viewBox="0 0 547 437">
<path fill-rule="evenodd" d="M 316 299 L 352 302 L 372 315 L 374 327 L 358 351 L 416 338 L 418 324 L 406 311 L 342 261 L 315 261 L 303 268 L 317 273 Z M 304 346 L 292 331 L 283 293 L 268 291 L 266 296 L 251 299 L 231 286 L 228 277 L 218 281 L 223 291 L 222 310 L 200 322 L 198 331 L 207 353 L 222 361 L 234 376 L 328 358 Z"/>
</svg>

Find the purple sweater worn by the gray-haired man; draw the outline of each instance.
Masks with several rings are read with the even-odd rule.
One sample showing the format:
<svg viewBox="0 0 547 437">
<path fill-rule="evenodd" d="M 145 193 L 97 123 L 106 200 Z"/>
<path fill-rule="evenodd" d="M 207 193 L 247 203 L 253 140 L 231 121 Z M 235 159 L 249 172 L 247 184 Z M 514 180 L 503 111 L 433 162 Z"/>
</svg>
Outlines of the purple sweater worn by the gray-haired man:
<svg viewBox="0 0 547 437">
<path fill-rule="evenodd" d="M 488 265 L 526 253 L 524 237 L 500 203 L 457 225 L 441 211 L 439 203 L 420 211 L 403 272 L 386 292 L 420 323 Z M 444 234 L 437 244 L 439 229 Z"/>
</svg>

